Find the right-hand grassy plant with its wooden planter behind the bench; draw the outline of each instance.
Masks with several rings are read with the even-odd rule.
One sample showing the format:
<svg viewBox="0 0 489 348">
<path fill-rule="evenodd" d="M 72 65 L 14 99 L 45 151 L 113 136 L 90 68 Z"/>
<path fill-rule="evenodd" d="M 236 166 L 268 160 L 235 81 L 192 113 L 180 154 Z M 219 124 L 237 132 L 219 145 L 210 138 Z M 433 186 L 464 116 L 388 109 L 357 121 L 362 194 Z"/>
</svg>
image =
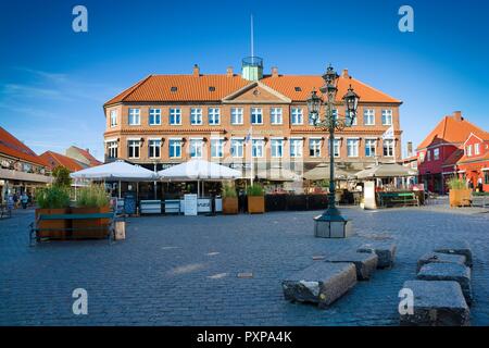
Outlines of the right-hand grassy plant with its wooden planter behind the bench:
<svg viewBox="0 0 489 348">
<path fill-rule="evenodd" d="M 76 198 L 76 207 L 72 208 L 73 214 L 109 213 L 110 211 L 110 200 L 103 185 L 91 185 L 82 189 Z M 73 220 L 73 229 L 77 237 L 104 238 L 109 231 L 103 226 L 108 224 L 109 219 Z"/>
</svg>

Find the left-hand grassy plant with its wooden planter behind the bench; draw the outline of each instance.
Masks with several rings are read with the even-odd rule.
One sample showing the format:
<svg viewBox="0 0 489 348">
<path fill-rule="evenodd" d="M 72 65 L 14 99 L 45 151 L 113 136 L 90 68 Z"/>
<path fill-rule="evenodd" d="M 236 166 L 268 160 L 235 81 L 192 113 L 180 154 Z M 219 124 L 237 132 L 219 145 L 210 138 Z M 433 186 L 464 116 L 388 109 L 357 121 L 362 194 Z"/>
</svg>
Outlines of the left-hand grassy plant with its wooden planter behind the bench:
<svg viewBox="0 0 489 348">
<path fill-rule="evenodd" d="M 70 194 L 66 188 L 57 185 L 41 188 L 37 191 L 37 204 L 39 208 L 36 209 L 36 221 L 40 214 L 67 214 L 70 213 Z M 37 228 L 41 231 L 37 233 L 37 237 L 62 239 L 67 236 L 66 228 L 70 227 L 70 220 L 39 221 Z"/>
</svg>

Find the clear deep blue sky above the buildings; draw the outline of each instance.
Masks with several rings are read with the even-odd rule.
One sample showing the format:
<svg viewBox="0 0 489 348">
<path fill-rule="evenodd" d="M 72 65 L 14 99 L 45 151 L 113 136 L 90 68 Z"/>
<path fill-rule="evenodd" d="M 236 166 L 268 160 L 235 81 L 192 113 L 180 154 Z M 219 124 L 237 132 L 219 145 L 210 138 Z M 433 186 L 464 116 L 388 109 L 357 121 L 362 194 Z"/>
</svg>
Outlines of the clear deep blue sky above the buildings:
<svg viewBox="0 0 489 348">
<path fill-rule="evenodd" d="M 88 9 L 88 33 L 72 9 Z M 401 5 L 414 33 L 398 29 Z M 347 8 L 348 5 L 348 8 Z M 327 63 L 403 100 L 403 144 L 454 110 L 489 130 L 489 1 L 0 2 L 0 125 L 36 152 L 71 145 L 103 158 L 102 104 L 148 74 L 239 71 L 322 74 Z"/>
</svg>

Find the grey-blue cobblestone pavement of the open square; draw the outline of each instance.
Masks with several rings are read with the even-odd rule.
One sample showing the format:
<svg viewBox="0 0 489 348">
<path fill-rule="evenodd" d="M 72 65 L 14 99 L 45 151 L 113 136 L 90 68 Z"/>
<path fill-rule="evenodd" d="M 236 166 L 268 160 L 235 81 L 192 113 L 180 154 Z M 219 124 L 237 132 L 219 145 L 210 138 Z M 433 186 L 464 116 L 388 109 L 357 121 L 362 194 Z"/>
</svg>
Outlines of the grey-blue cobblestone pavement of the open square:
<svg viewBox="0 0 489 348">
<path fill-rule="evenodd" d="M 317 212 L 128 220 L 127 239 L 28 247 L 33 211 L 0 221 L 0 325 L 396 325 L 398 291 L 416 260 L 453 239 L 471 243 L 472 323 L 489 325 L 489 213 L 447 207 L 362 211 L 344 208 L 355 236 L 313 237 Z M 375 239 L 398 244 L 379 270 L 327 310 L 286 302 L 280 281 L 313 256 Z M 252 278 L 237 274 L 252 272 Z M 88 291 L 74 315 L 72 291 Z"/>
</svg>

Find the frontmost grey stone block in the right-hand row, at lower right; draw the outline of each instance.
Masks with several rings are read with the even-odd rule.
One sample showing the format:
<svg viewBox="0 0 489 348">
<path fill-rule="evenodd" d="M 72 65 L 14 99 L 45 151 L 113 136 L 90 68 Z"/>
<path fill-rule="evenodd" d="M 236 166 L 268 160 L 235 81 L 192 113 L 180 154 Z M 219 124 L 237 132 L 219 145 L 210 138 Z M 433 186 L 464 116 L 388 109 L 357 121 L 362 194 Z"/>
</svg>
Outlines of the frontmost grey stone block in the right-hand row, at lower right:
<svg viewBox="0 0 489 348">
<path fill-rule="evenodd" d="M 413 291 L 412 312 L 400 313 L 400 324 L 410 326 L 466 326 L 471 311 L 456 282 L 408 281 Z"/>
</svg>

